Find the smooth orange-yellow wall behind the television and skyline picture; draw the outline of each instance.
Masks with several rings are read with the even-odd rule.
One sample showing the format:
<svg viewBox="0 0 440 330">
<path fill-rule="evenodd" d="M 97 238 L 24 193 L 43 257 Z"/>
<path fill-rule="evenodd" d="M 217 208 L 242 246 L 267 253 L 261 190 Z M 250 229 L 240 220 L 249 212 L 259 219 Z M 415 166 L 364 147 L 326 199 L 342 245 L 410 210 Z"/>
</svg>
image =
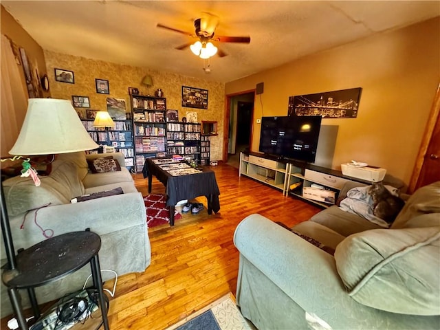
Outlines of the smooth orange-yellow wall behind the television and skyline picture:
<svg viewBox="0 0 440 330">
<path fill-rule="evenodd" d="M 355 159 L 382 166 L 408 184 L 439 77 L 437 17 L 227 83 L 225 93 L 264 82 L 263 107 L 259 96 L 254 102 L 254 117 L 260 118 L 287 115 L 289 96 L 362 87 L 357 118 L 322 120 L 339 126 L 331 167 Z M 260 129 L 254 122 L 254 151 Z"/>
</svg>

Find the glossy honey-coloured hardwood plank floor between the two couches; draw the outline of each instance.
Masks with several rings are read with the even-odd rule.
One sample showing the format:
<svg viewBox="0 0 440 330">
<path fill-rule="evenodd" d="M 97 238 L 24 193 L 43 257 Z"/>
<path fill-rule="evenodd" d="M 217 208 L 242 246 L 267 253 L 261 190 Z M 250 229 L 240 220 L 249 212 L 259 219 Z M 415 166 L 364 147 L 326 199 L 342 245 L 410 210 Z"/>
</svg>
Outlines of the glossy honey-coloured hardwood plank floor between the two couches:
<svg viewBox="0 0 440 330">
<path fill-rule="evenodd" d="M 208 215 L 206 198 L 198 197 L 205 206 L 200 214 L 182 214 L 173 228 L 161 225 L 148 230 L 151 265 L 143 273 L 118 279 L 115 297 L 110 300 L 111 330 L 165 329 L 228 292 L 235 295 L 239 252 L 232 239 L 236 225 L 249 214 L 260 213 L 292 226 L 320 211 L 239 177 L 238 169 L 227 164 L 212 169 L 221 192 L 220 212 Z M 137 189 L 147 195 L 147 180 L 142 175 L 134 177 Z M 164 190 L 153 179 L 152 192 Z M 112 285 L 113 281 L 104 287 L 111 289 Z M 8 329 L 7 319 L 1 320 L 1 329 Z"/>
</svg>

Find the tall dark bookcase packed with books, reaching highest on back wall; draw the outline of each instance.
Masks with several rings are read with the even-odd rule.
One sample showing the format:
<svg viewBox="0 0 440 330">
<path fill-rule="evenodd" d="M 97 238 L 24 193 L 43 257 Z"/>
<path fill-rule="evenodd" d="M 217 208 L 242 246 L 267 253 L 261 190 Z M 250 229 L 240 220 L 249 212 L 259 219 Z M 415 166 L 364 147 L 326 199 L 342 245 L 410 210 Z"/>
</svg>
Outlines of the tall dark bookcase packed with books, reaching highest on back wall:
<svg viewBox="0 0 440 330">
<path fill-rule="evenodd" d="M 145 159 L 166 152 L 166 99 L 131 96 L 135 171 L 142 172 Z"/>
</svg>

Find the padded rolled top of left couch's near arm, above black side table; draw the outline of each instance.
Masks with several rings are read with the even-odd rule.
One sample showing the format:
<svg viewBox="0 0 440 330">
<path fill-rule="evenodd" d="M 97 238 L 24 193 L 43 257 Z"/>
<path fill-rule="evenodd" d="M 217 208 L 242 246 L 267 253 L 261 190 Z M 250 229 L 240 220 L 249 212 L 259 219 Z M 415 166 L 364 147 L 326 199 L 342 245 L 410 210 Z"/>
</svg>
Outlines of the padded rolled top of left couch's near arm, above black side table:
<svg viewBox="0 0 440 330">
<path fill-rule="evenodd" d="M 23 230 L 20 230 L 22 223 Z M 10 225 L 16 250 L 43 241 L 43 230 L 45 234 L 53 231 L 54 236 L 57 236 L 90 228 L 97 234 L 104 235 L 145 225 L 145 232 L 147 231 L 146 210 L 140 192 L 47 206 L 39 209 L 36 216 L 35 211 L 29 212 L 25 221 L 23 217 L 12 217 Z"/>
</svg>

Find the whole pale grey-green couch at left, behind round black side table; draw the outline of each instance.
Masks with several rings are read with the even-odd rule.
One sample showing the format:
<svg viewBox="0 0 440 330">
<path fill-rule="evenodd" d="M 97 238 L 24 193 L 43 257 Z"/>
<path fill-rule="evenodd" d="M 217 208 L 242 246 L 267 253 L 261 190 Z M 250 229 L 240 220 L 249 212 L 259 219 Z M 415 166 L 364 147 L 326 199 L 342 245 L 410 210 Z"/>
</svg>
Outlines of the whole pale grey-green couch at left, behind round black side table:
<svg viewBox="0 0 440 330">
<path fill-rule="evenodd" d="M 91 173 L 87 159 L 113 156 L 118 159 L 120 171 Z M 85 155 L 84 152 L 57 155 L 52 171 L 40 177 L 36 187 L 29 177 L 12 177 L 3 181 L 14 248 L 28 248 L 43 241 L 46 234 L 54 236 L 90 228 L 102 240 L 99 252 L 101 270 L 113 270 L 118 275 L 144 272 L 151 262 L 151 248 L 146 226 L 146 210 L 140 192 L 137 192 L 129 170 L 124 167 L 122 153 Z M 121 187 L 122 195 L 114 195 L 70 203 L 80 195 Z M 50 203 L 46 207 L 42 207 Z M 37 225 L 38 224 L 38 225 Z M 21 226 L 23 225 L 23 230 Z M 6 263 L 1 241 L 1 264 Z M 61 298 L 81 289 L 90 267 L 66 276 L 60 281 L 36 288 L 39 303 Z M 111 272 L 102 272 L 103 281 L 113 278 Z M 89 281 L 89 285 L 91 280 Z M 118 288 L 116 288 L 116 291 Z M 25 290 L 21 292 L 23 305 L 30 306 Z M 1 317 L 12 314 L 8 292 L 1 284 Z"/>
</svg>

